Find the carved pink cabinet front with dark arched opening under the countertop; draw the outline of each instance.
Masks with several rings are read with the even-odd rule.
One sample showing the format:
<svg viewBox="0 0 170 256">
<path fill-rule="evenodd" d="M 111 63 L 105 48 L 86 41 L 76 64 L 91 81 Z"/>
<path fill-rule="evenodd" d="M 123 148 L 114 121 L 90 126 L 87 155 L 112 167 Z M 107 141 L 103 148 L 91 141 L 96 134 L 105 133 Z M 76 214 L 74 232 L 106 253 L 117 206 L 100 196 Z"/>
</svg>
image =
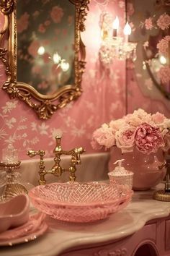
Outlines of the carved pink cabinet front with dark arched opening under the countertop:
<svg viewBox="0 0 170 256">
<path fill-rule="evenodd" d="M 146 246 L 143 246 L 146 244 Z M 148 224 L 135 234 L 109 244 L 87 244 L 84 249 L 75 248 L 62 256 L 159 256 L 156 249 L 156 223 Z M 142 249 L 138 249 L 141 247 Z M 141 253 L 145 253 L 141 255 Z M 150 252 L 153 254 L 150 254 Z M 161 255 L 160 255 L 161 256 Z"/>
</svg>

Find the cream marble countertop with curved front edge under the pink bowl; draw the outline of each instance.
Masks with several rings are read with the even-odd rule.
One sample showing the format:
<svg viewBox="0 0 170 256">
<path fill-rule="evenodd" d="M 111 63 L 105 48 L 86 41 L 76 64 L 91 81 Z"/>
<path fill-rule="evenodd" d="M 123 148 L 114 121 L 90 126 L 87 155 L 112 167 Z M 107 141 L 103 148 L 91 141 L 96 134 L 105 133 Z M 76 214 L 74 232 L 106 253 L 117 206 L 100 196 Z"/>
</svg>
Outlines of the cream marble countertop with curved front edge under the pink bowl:
<svg viewBox="0 0 170 256">
<path fill-rule="evenodd" d="M 153 190 L 135 192 L 127 208 L 96 223 L 63 223 L 48 218 L 50 228 L 46 234 L 26 244 L 0 247 L 0 254 L 3 256 L 56 256 L 72 247 L 123 238 L 141 229 L 147 221 L 169 216 L 170 202 L 153 200 L 152 195 Z"/>
</svg>

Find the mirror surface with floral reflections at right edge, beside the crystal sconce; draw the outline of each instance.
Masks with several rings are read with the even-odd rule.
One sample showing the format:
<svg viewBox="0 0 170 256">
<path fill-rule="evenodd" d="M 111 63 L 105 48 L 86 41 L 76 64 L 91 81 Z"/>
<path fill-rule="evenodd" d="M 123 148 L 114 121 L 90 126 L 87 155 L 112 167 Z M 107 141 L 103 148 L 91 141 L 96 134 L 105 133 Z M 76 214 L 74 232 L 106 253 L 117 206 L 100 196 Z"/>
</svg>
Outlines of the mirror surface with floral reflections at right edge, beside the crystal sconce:
<svg viewBox="0 0 170 256">
<path fill-rule="evenodd" d="M 149 95 L 156 86 L 170 99 L 170 2 L 134 1 L 134 9 L 130 21 L 135 31 L 130 39 L 138 40 L 135 72 L 140 88 Z"/>
</svg>

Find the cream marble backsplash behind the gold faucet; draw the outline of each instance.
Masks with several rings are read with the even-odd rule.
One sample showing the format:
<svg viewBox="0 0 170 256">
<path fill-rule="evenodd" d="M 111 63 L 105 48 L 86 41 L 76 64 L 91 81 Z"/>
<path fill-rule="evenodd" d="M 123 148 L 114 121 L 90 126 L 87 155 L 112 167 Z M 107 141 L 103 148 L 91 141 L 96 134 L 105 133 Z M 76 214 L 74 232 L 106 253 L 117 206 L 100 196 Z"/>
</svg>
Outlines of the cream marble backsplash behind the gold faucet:
<svg viewBox="0 0 170 256">
<path fill-rule="evenodd" d="M 71 156 L 63 155 L 61 167 L 69 167 Z M 23 160 L 21 164 L 22 180 L 30 182 L 36 186 L 39 179 L 39 158 L 30 158 Z M 76 182 L 91 182 L 108 179 L 107 163 L 109 161 L 109 153 L 91 153 L 81 155 L 81 165 L 76 166 Z M 50 170 L 53 166 L 53 158 L 45 158 L 45 169 Z M 61 177 L 46 174 L 47 183 L 52 182 L 68 182 L 69 172 L 62 174 Z"/>
</svg>

